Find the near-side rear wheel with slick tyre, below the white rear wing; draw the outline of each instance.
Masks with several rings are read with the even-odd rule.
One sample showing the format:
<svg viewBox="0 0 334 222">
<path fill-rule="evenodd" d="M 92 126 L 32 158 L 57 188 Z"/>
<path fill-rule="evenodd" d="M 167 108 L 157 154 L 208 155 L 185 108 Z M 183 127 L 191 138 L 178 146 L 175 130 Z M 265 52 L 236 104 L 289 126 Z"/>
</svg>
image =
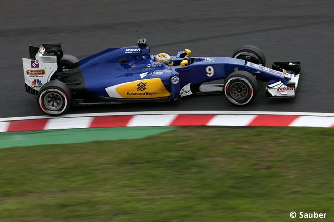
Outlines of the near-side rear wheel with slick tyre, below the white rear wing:
<svg viewBox="0 0 334 222">
<path fill-rule="evenodd" d="M 40 109 L 52 116 L 67 112 L 71 105 L 72 92 L 68 86 L 58 80 L 46 83 L 37 95 L 37 104 Z"/>
</svg>

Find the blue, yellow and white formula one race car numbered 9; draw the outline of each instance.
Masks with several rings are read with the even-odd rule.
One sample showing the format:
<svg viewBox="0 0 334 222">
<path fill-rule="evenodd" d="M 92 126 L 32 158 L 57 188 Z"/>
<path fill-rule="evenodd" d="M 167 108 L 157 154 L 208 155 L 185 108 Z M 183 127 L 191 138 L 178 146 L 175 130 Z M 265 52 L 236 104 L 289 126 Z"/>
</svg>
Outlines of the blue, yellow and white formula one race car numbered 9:
<svg viewBox="0 0 334 222">
<path fill-rule="evenodd" d="M 23 58 L 26 92 L 37 95 L 40 109 L 64 114 L 70 105 L 166 102 L 191 94 L 224 93 L 235 105 L 250 103 L 257 80 L 269 82 L 267 97 L 295 97 L 300 62 L 274 62 L 265 67 L 263 52 L 245 45 L 232 57 L 171 56 L 173 66 L 157 62 L 146 39 L 138 46 L 111 48 L 78 60 L 63 54 L 62 44 L 29 46 Z M 203 84 L 224 79 L 224 84 Z"/>
</svg>

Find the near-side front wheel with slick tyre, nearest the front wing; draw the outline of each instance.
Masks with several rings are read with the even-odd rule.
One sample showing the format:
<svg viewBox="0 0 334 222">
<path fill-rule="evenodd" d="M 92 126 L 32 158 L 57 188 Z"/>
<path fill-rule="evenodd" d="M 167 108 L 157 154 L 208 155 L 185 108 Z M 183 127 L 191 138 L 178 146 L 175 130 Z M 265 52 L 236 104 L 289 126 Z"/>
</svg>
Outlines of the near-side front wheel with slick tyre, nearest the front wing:
<svg viewBox="0 0 334 222">
<path fill-rule="evenodd" d="M 225 79 L 224 94 L 229 102 L 235 105 L 250 103 L 256 97 L 257 92 L 257 81 L 249 72 L 236 71 Z"/>
</svg>

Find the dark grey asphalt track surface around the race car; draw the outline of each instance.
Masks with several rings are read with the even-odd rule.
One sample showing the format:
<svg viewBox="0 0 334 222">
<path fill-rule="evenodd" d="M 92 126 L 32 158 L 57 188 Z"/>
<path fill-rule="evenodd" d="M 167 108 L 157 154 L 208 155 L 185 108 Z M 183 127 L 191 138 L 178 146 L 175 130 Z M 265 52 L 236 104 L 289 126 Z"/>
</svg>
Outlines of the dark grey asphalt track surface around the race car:
<svg viewBox="0 0 334 222">
<path fill-rule="evenodd" d="M 245 44 L 273 60 L 300 60 L 297 97 L 266 99 L 265 86 L 248 106 L 224 95 L 187 96 L 177 103 L 72 107 L 68 114 L 126 111 L 288 111 L 334 113 L 333 1 L 21 1 L 0 12 L 0 118 L 43 115 L 25 92 L 22 57 L 28 45 L 63 43 L 83 59 L 106 48 L 135 46 L 146 38 L 151 53 L 231 56 Z"/>
</svg>

